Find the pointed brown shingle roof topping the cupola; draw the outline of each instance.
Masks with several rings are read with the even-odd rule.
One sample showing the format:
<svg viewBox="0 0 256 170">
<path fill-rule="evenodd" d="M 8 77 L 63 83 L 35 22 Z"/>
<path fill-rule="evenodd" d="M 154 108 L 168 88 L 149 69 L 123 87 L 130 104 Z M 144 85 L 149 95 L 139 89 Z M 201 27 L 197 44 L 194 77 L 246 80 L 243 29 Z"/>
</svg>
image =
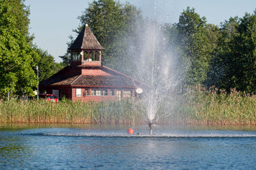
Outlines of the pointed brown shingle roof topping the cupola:
<svg viewBox="0 0 256 170">
<path fill-rule="evenodd" d="M 99 41 L 93 35 L 88 25 L 78 34 L 76 40 L 70 46 L 69 50 L 102 50 L 104 49 Z"/>
</svg>

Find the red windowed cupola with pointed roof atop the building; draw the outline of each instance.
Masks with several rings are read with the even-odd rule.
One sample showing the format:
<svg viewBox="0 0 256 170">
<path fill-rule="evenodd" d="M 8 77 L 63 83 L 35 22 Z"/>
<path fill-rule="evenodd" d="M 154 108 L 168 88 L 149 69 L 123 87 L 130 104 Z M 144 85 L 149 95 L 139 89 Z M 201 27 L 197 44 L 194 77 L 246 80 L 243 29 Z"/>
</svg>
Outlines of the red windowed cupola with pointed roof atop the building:
<svg viewBox="0 0 256 170">
<path fill-rule="evenodd" d="M 103 49 L 86 24 L 69 48 L 71 52 L 70 65 L 101 66 L 101 50 Z"/>
</svg>

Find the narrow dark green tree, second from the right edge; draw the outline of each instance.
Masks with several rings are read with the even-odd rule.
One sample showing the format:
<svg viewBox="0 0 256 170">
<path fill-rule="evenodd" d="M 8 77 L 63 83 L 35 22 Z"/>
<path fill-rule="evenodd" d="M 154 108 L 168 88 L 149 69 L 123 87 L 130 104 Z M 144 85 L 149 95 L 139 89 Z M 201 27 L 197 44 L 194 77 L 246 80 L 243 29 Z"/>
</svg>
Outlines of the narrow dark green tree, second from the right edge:
<svg viewBox="0 0 256 170">
<path fill-rule="evenodd" d="M 210 69 L 207 74 L 206 85 L 215 86 L 219 89 L 230 90 L 234 88 L 234 81 L 232 74 L 234 74 L 233 66 L 233 46 L 232 39 L 237 36 L 237 25 L 239 25 L 239 18 L 234 17 L 221 23 L 217 34 L 217 43 L 214 55 L 212 55 Z M 234 42 L 234 41 L 233 41 Z"/>
</svg>

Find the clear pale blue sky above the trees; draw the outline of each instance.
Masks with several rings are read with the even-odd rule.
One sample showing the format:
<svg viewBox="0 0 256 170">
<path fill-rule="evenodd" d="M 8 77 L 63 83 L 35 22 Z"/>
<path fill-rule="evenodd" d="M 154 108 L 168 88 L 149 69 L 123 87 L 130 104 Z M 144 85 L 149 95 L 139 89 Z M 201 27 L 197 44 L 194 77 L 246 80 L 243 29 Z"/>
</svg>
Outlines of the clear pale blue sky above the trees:
<svg viewBox="0 0 256 170">
<path fill-rule="evenodd" d="M 78 16 L 93 0 L 26 0 L 31 14 L 30 33 L 35 36 L 34 43 L 50 53 L 56 62 L 60 55 L 67 52 L 68 36 L 76 38 L 72 30 L 79 25 Z M 179 15 L 187 6 L 195 8 L 200 17 L 206 17 L 207 23 L 220 25 L 230 17 L 243 17 L 253 13 L 256 0 L 120 0 L 129 2 L 142 11 L 143 17 L 154 18 L 160 23 L 177 23 Z"/>
</svg>

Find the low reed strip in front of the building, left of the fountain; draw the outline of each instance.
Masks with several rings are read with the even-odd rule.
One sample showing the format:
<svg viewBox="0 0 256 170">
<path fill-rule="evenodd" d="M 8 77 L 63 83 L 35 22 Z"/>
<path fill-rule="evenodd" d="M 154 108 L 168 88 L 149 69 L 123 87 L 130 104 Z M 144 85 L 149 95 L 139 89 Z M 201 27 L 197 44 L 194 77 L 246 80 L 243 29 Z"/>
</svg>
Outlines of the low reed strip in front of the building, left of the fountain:
<svg viewBox="0 0 256 170">
<path fill-rule="evenodd" d="M 60 103 L 49 101 L 1 101 L 2 123 L 52 124 L 139 124 L 140 117 L 131 111 L 131 101 Z"/>
</svg>

